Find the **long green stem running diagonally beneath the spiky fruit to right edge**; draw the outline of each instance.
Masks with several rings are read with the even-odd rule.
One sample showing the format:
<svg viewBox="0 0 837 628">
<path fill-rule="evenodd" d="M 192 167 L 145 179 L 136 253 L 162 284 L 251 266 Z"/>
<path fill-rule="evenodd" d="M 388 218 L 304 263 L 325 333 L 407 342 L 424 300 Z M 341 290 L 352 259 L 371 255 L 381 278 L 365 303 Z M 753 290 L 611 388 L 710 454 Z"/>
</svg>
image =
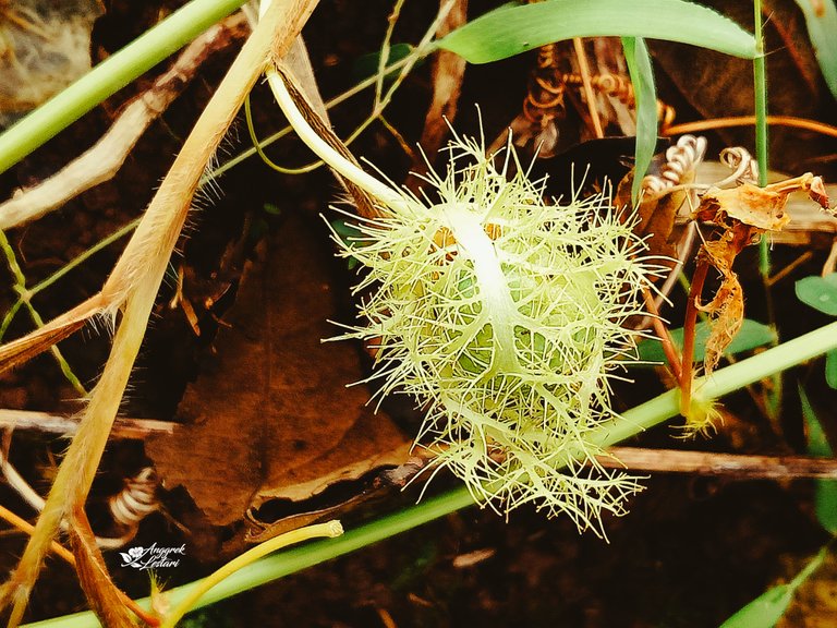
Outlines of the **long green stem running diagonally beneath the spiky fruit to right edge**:
<svg viewBox="0 0 837 628">
<path fill-rule="evenodd" d="M 706 399 L 721 397 L 836 348 L 837 323 L 832 323 L 737 364 L 716 371 L 708 379 L 699 381 L 696 392 Z M 598 432 L 598 437 L 595 438 L 596 444 L 603 447 L 615 445 L 675 416 L 678 410 L 678 390 L 668 390 L 628 410 L 622 414 L 620 421 L 603 426 Z M 473 504 L 468 488 L 462 486 L 355 528 L 339 539 L 319 541 L 305 547 L 263 558 L 242 568 L 214 587 L 201 597 L 194 607 L 226 600 L 290 573 L 384 541 Z M 177 604 L 198 585 L 199 581 L 172 589 L 168 592 L 171 603 Z M 150 601 L 146 597 L 140 603 L 148 605 Z M 27 625 L 28 628 L 95 628 L 97 626 L 98 621 L 90 612 Z"/>
</svg>

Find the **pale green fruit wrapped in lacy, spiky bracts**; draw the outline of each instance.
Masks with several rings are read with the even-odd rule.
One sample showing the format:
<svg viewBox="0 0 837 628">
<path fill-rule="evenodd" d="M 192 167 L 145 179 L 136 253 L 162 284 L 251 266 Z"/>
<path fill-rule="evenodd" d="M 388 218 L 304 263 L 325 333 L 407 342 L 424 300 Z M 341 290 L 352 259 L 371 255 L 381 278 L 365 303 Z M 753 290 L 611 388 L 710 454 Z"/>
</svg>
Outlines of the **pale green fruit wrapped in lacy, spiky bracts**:
<svg viewBox="0 0 837 628">
<path fill-rule="evenodd" d="M 415 396 L 417 443 L 499 510 L 534 503 L 601 530 L 635 480 L 607 471 L 590 435 L 617 419 L 608 379 L 630 359 L 654 268 L 605 196 L 546 204 L 543 182 L 457 137 L 423 198 L 337 241 L 365 267 L 365 324 L 383 394 Z M 515 174 L 507 178 L 514 160 Z"/>
</svg>

